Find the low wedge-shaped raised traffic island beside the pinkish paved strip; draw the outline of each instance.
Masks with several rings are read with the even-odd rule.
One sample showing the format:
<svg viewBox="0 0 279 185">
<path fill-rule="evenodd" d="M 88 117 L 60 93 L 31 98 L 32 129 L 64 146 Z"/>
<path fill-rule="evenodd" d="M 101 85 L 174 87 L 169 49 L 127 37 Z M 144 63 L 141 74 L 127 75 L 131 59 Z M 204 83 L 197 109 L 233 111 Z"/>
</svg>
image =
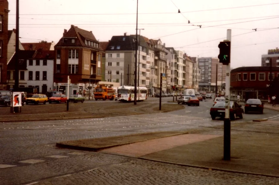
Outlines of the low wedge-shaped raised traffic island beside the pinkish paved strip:
<svg viewBox="0 0 279 185">
<path fill-rule="evenodd" d="M 57 142 L 56 146 L 60 148 L 79 149 L 87 151 L 97 151 L 110 147 L 121 146 L 125 144 L 131 144 L 141 141 L 147 141 L 151 139 L 164 138 L 170 136 L 176 136 L 186 134 L 187 132 L 152 132 L 152 133 L 140 133 L 131 134 L 125 136 L 113 136 L 105 138 L 95 139 L 81 139 L 75 141 L 62 141 Z"/>
</svg>

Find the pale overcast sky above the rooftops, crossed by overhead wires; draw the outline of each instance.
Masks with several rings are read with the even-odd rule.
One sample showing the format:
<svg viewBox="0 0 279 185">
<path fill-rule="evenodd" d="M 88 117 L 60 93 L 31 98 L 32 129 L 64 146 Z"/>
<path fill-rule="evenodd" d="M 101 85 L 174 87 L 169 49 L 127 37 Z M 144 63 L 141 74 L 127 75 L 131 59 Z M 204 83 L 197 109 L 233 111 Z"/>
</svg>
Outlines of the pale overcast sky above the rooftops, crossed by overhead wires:
<svg viewBox="0 0 279 185">
<path fill-rule="evenodd" d="M 70 25 L 92 31 L 99 41 L 136 33 L 137 0 L 19 3 L 21 42 L 57 43 Z M 9 0 L 9 30 L 15 28 L 15 4 Z M 218 44 L 231 29 L 231 67 L 260 66 L 261 55 L 279 47 L 278 9 L 278 0 L 138 0 L 138 28 L 191 57 L 217 57 Z"/>
</svg>

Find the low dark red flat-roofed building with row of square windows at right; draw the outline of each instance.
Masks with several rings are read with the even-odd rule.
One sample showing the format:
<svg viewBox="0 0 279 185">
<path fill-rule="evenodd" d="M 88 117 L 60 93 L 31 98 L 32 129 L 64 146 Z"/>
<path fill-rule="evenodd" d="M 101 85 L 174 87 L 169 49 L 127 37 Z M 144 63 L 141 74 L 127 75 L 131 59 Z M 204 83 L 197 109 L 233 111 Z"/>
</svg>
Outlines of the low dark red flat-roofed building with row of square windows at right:
<svg viewBox="0 0 279 185">
<path fill-rule="evenodd" d="M 279 77 L 279 67 L 272 68 L 272 80 Z M 231 70 L 231 99 L 268 99 L 270 67 L 238 67 Z"/>
</svg>

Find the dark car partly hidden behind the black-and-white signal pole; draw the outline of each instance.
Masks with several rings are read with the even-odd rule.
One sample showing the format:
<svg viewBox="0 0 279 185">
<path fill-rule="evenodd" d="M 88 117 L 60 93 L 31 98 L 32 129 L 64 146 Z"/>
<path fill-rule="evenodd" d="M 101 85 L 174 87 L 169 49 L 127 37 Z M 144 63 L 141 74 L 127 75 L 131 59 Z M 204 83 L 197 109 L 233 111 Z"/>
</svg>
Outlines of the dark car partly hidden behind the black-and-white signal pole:
<svg viewBox="0 0 279 185">
<path fill-rule="evenodd" d="M 230 102 L 230 119 L 235 120 L 236 117 L 240 119 L 243 118 L 244 110 L 242 106 L 236 102 Z M 216 117 L 224 118 L 225 117 L 225 101 L 217 102 L 213 107 L 210 108 L 211 119 L 215 120 Z"/>
</svg>

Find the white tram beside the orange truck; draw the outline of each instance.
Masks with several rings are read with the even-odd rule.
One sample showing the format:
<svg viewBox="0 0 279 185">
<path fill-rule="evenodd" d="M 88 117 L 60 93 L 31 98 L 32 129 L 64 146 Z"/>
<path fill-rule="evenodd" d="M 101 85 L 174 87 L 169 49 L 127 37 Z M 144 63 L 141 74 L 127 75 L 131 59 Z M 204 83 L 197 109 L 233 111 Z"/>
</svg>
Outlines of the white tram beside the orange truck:
<svg viewBox="0 0 279 185">
<path fill-rule="evenodd" d="M 121 102 L 134 101 L 134 86 L 120 86 L 117 88 L 117 100 Z M 137 87 L 137 101 L 147 99 L 147 88 Z"/>
</svg>

